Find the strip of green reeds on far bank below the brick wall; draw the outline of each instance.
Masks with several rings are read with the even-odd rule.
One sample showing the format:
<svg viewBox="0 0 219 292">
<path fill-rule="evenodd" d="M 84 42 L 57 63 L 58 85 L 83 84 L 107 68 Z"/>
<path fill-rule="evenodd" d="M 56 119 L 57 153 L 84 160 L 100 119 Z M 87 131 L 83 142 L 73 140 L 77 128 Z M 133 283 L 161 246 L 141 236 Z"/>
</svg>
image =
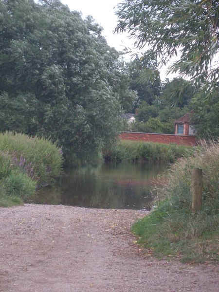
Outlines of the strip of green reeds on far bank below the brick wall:
<svg viewBox="0 0 219 292">
<path fill-rule="evenodd" d="M 194 147 L 190 146 L 120 140 L 110 153 L 105 154 L 105 159 L 126 162 L 172 163 L 179 157 L 188 156 L 193 151 Z"/>
</svg>

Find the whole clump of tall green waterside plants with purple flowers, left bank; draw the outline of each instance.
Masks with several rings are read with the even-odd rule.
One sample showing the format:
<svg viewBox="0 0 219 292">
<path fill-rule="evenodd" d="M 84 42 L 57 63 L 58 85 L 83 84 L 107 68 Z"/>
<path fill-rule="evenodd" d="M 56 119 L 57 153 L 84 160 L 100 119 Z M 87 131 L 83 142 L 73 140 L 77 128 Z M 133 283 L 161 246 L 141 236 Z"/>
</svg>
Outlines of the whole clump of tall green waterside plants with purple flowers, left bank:
<svg viewBox="0 0 219 292">
<path fill-rule="evenodd" d="M 60 175 L 62 153 L 50 141 L 0 133 L 0 206 L 29 201 L 37 187 Z"/>
</svg>

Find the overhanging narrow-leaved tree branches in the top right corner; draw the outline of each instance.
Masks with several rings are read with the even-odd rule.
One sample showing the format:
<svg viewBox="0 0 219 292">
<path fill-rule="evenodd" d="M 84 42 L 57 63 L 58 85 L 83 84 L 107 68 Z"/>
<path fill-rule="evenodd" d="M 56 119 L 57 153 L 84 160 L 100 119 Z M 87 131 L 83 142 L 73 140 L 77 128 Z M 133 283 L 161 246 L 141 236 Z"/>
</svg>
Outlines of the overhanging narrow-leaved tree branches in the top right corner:
<svg viewBox="0 0 219 292">
<path fill-rule="evenodd" d="M 218 0 L 126 0 L 118 6 L 117 32 L 128 31 L 137 48 L 150 47 L 147 57 L 166 65 L 174 55 L 179 60 L 172 72 L 189 76 L 205 91 L 219 87 Z"/>
</svg>

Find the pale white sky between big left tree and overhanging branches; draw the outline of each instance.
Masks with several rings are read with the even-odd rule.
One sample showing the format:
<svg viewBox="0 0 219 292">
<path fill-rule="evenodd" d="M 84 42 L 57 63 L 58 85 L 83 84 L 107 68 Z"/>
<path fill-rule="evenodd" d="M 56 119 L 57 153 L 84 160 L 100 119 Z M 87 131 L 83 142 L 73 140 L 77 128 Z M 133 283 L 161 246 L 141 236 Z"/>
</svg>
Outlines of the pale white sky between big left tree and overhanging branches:
<svg viewBox="0 0 219 292">
<path fill-rule="evenodd" d="M 128 38 L 128 34 L 115 33 L 113 31 L 116 27 L 117 16 L 114 14 L 117 4 L 124 0 L 61 0 L 62 3 L 67 4 L 71 10 L 80 11 L 82 18 L 91 15 L 95 21 L 103 27 L 103 36 L 107 39 L 110 47 L 115 47 L 117 51 L 123 51 L 124 47 L 128 47 L 133 52 L 139 52 L 134 49 L 133 39 Z M 114 8 L 115 7 L 115 8 Z M 174 76 L 165 74 L 165 69 L 160 70 L 161 79 L 165 77 L 172 79 Z"/>
</svg>

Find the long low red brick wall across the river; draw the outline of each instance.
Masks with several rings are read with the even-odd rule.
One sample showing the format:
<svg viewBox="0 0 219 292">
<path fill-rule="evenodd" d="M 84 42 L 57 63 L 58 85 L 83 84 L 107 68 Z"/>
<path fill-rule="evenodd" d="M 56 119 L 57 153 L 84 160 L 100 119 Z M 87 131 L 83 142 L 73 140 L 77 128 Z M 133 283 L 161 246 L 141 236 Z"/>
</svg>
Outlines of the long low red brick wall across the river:
<svg viewBox="0 0 219 292">
<path fill-rule="evenodd" d="M 177 144 L 177 145 L 196 145 L 194 136 L 186 135 L 169 135 L 169 134 L 154 134 L 154 133 L 138 133 L 138 132 L 122 132 L 119 135 L 121 140 L 134 140 L 156 142 L 162 144 Z"/>
</svg>

